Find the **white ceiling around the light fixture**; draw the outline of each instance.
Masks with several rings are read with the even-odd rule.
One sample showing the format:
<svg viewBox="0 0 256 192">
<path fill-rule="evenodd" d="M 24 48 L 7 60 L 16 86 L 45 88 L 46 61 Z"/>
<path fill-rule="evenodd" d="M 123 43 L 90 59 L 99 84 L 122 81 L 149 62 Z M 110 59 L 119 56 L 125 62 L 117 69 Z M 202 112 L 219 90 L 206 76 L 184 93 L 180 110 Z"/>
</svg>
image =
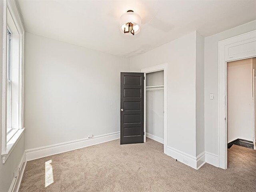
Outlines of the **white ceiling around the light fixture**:
<svg viewBox="0 0 256 192">
<path fill-rule="evenodd" d="M 210 36 L 256 20 L 256 0 L 18 0 L 27 32 L 129 58 L 198 30 Z M 142 18 L 135 36 L 119 31 L 127 10 Z"/>
</svg>

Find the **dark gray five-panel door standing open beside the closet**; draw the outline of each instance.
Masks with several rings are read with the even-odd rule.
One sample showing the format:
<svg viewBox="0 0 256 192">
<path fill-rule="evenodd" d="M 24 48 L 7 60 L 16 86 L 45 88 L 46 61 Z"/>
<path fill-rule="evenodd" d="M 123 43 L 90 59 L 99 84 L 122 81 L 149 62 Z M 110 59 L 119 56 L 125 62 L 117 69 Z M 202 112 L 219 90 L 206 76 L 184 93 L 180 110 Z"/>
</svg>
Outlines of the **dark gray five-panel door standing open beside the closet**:
<svg viewBox="0 0 256 192">
<path fill-rule="evenodd" d="M 144 142 L 144 73 L 121 73 L 120 144 Z"/>
</svg>

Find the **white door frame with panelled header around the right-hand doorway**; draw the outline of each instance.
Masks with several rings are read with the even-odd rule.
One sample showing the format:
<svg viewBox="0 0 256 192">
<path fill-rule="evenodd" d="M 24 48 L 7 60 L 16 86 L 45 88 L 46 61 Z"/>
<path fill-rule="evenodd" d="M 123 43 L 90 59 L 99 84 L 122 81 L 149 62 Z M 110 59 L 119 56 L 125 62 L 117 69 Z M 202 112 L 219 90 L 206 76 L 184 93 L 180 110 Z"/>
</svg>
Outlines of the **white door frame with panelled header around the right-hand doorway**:
<svg viewBox="0 0 256 192">
<path fill-rule="evenodd" d="M 256 30 L 218 42 L 218 158 L 219 167 L 228 167 L 227 144 L 227 62 L 256 56 Z"/>
</svg>

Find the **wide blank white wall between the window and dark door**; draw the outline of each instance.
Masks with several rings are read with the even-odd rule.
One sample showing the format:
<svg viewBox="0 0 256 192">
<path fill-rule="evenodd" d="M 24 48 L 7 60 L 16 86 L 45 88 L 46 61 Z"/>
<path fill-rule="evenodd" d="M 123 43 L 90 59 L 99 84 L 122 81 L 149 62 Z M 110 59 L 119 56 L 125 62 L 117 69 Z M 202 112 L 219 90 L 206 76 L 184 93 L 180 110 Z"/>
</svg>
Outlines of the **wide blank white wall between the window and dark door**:
<svg viewBox="0 0 256 192">
<path fill-rule="evenodd" d="M 120 131 L 128 59 L 30 33 L 25 39 L 26 149 Z"/>
</svg>

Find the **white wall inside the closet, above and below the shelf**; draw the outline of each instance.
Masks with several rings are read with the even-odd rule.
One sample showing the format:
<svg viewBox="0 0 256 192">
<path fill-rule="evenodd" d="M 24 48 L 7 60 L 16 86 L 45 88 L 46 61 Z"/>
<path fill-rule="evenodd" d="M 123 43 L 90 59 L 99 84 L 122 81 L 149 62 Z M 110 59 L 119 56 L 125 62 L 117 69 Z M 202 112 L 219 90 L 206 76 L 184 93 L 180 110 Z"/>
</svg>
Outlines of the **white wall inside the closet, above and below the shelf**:
<svg viewBox="0 0 256 192">
<path fill-rule="evenodd" d="M 146 74 L 146 86 L 161 85 L 164 71 Z M 164 139 L 164 90 L 146 91 L 146 132 Z"/>
</svg>

